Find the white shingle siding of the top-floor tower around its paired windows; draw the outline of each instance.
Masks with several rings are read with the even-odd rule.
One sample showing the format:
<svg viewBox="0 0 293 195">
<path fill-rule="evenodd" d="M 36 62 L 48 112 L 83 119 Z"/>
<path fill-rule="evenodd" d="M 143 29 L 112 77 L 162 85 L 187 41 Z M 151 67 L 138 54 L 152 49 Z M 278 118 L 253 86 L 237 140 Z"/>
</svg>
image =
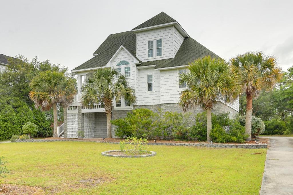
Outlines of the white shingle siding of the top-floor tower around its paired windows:
<svg viewBox="0 0 293 195">
<path fill-rule="evenodd" d="M 154 30 L 147 30 L 143 32 L 137 32 L 137 43 L 136 43 L 136 56 L 141 61 L 153 61 L 173 58 L 173 26 L 158 28 Z M 147 58 L 147 41 L 162 39 L 162 56 Z M 155 53 L 155 42 L 154 42 L 154 53 Z"/>
</svg>

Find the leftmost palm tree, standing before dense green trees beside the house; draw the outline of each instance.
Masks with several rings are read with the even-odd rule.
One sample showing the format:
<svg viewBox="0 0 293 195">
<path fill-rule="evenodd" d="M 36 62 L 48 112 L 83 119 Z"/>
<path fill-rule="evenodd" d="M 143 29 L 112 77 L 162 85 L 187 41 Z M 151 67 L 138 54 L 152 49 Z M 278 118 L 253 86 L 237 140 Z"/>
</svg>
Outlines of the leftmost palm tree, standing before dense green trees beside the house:
<svg viewBox="0 0 293 195">
<path fill-rule="evenodd" d="M 47 70 L 40 72 L 30 83 L 29 97 L 35 107 L 40 107 L 41 111 L 53 108 L 53 137 L 57 137 L 57 105 L 68 106 L 73 102 L 76 94 L 74 82 L 64 73 Z"/>
</svg>

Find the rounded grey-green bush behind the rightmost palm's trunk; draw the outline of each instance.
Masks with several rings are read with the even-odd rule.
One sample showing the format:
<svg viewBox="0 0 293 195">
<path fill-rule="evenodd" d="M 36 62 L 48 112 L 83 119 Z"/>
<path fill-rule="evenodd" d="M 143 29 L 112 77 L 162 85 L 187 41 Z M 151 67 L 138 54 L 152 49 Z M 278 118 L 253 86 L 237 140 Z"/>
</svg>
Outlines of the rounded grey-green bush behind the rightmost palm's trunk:
<svg viewBox="0 0 293 195">
<path fill-rule="evenodd" d="M 236 117 L 236 120 L 240 122 L 240 124 L 245 127 L 245 115 L 239 115 Z M 265 131 L 265 124 L 264 122 L 256 117 L 252 116 L 251 117 L 251 137 L 258 137 L 259 135 L 263 134 Z"/>
</svg>

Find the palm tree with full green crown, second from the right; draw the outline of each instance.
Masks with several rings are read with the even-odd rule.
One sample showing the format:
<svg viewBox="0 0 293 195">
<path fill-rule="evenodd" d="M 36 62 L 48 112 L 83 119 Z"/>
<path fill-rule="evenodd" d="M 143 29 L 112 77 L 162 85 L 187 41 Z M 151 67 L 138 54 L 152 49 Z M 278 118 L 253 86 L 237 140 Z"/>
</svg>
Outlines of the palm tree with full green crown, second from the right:
<svg viewBox="0 0 293 195">
<path fill-rule="evenodd" d="M 188 73 L 180 74 L 180 84 L 186 88 L 180 93 L 179 105 L 188 108 L 200 106 L 207 111 L 207 141 L 212 129 L 212 108 L 221 100 L 232 103 L 240 94 L 238 79 L 229 65 L 222 59 L 205 56 L 189 63 Z"/>
</svg>

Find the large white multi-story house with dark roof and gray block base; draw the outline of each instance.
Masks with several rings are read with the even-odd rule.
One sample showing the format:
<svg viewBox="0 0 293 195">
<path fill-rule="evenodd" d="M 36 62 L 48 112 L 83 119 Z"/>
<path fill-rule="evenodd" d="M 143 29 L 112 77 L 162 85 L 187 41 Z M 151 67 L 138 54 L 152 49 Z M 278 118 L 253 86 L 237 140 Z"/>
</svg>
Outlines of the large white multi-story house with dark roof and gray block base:
<svg viewBox="0 0 293 195">
<path fill-rule="evenodd" d="M 189 62 L 202 56 L 219 58 L 212 51 L 191 38 L 181 25 L 164 12 L 127 32 L 110 34 L 93 53 L 93 58 L 74 68 L 78 75 L 78 94 L 75 102 L 67 108 L 64 125 L 59 135 L 78 137 L 106 137 L 106 114 L 101 105 L 81 106 L 80 94 L 83 80 L 98 68 L 116 68 L 128 77 L 137 97 L 136 105 L 129 105 L 122 98 L 113 102 L 112 119 L 125 117 L 134 108 L 149 108 L 157 111 L 182 112 L 178 106 L 179 93 L 184 85 L 179 84 L 179 73 L 186 71 Z M 194 109 L 191 112 L 201 112 Z M 217 102 L 213 112 L 239 112 L 239 102 L 225 105 Z M 112 136 L 114 135 L 112 127 Z"/>
</svg>

